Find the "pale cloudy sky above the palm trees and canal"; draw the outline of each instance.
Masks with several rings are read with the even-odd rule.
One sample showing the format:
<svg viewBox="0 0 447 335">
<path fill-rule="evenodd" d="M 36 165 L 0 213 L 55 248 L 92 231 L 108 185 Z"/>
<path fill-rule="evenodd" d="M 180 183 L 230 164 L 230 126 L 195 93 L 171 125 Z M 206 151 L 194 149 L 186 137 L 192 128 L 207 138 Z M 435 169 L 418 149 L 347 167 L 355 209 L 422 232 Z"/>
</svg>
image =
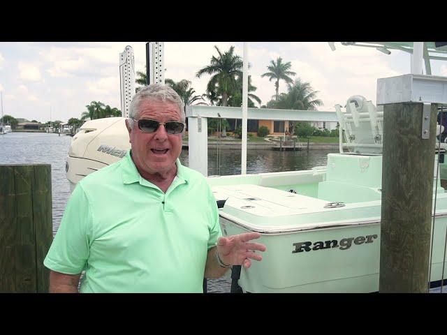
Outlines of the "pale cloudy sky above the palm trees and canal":
<svg viewBox="0 0 447 335">
<path fill-rule="evenodd" d="M 145 71 L 144 42 L 98 43 L 2 43 L 0 42 L 0 91 L 3 114 L 31 121 L 68 121 L 80 118 L 91 101 L 101 101 L 121 109 L 119 92 L 119 53 L 131 45 L 135 70 Z M 242 42 L 165 42 L 165 78 L 190 80 L 196 94 L 205 93 L 209 75 L 196 77 L 200 68 L 221 52 L 235 45 L 243 56 Z M 261 75 L 271 60 L 282 57 L 291 70 L 318 91 L 323 101 L 318 110 L 335 110 L 353 95 L 376 103 L 376 80 L 410 73 L 410 55 L 392 50 L 390 55 L 374 48 L 335 43 L 332 51 L 325 42 L 249 43 L 249 74 L 254 92 L 265 105 L 274 95 L 274 82 Z M 447 66 L 432 61 L 433 75 L 447 75 Z M 279 92 L 286 83 L 279 82 Z M 259 107 L 259 106 L 258 106 Z"/>
</svg>

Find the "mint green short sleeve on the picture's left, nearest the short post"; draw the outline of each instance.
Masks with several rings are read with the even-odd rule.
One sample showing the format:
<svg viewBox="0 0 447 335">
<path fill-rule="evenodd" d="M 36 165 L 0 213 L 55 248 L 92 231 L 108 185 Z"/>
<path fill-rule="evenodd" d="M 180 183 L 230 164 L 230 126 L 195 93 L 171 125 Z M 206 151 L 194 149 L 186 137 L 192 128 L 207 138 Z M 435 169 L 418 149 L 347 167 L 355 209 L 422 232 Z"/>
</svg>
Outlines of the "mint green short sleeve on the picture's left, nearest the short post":
<svg viewBox="0 0 447 335">
<path fill-rule="evenodd" d="M 80 274 L 89 258 L 92 220 L 91 203 L 80 183 L 68 200 L 43 265 L 62 274 Z"/>
</svg>

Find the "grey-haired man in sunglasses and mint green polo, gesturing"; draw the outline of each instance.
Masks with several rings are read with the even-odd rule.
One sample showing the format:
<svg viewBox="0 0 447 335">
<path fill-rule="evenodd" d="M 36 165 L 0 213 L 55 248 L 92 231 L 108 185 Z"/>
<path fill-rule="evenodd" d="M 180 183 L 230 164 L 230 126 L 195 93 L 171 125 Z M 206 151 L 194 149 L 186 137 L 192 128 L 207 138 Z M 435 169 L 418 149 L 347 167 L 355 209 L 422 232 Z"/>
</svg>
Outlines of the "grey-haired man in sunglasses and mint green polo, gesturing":
<svg viewBox="0 0 447 335">
<path fill-rule="evenodd" d="M 203 278 L 261 260 L 260 234 L 221 237 L 206 179 L 182 166 L 183 103 L 154 84 L 135 94 L 131 151 L 78 183 L 44 265 L 50 292 L 203 292 Z"/>
</svg>

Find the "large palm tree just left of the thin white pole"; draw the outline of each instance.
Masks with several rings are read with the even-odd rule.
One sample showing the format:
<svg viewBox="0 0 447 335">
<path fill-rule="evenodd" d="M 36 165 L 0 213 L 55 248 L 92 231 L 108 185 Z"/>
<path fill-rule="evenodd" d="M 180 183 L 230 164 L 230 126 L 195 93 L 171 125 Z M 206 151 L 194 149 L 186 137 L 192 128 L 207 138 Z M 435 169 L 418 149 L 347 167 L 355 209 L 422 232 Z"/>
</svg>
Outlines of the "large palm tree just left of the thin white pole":
<svg viewBox="0 0 447 335">
<path fill-rule="evenodd" d="M 222 54 L 217 45 L 214 45 L 219 57 L 211 57 L 210 65 L 198 70 L 198 78 L 202 75 L 212 75 L 207 85 L 207 93 L 221 96 L 221 105 L 228 106 L 228 96 L 237 88 L 237 77 L 242 77 L 242 59 L 234 54 L 235 47 Z"/>
</svg>

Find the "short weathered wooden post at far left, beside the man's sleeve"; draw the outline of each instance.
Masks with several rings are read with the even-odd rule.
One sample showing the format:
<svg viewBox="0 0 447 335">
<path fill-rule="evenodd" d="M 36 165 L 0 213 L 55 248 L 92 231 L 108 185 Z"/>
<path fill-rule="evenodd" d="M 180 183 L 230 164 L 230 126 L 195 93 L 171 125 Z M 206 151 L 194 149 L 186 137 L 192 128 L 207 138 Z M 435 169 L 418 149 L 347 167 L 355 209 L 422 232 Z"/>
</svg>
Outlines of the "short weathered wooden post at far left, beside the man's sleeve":
<svg viewBox="0 0 447 335">
<path fill-rule="evenodd" d="M 48 292 L 51 166 L 0 165 L 0 292 Z"/>
</svg>

